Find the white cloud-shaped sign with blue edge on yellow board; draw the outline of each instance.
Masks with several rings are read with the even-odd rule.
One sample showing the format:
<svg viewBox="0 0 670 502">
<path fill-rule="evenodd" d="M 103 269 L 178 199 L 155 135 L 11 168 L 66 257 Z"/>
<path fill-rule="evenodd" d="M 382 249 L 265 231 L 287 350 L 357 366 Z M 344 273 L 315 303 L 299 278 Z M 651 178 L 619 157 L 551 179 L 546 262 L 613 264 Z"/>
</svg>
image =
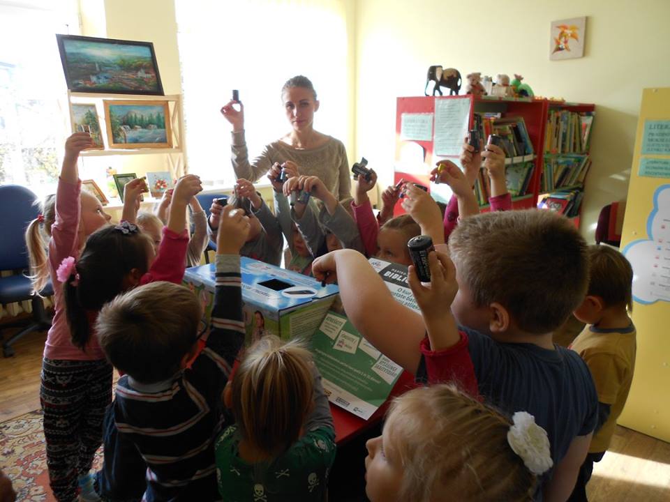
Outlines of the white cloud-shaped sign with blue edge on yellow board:
<svg viewBox="0 0 670 502">
<path fill-rule="evenodd" d="M 633 299 L 644 305 L 670 302 L 670 185 L 654 192 L 647 235 L 623 250 L 633 267 Z"/>
</svg>

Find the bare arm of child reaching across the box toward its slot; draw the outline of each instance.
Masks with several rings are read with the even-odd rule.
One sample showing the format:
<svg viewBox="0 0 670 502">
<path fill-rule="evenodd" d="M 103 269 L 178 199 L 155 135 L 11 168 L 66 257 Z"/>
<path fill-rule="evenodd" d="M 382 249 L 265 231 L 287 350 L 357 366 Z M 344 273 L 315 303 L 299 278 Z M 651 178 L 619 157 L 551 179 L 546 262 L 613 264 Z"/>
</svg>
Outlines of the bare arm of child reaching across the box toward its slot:
<svg viewBox="0 0 670 502">
<path fill-rule="evenodd" d="M 315 259 L 317 280 L 334 282 L 347 317 L 385 356 L 416 374 L 426 333 L 421 315 L 398 303 L 367 259 L 354 250 L 338 250 Z"/>
</svg>

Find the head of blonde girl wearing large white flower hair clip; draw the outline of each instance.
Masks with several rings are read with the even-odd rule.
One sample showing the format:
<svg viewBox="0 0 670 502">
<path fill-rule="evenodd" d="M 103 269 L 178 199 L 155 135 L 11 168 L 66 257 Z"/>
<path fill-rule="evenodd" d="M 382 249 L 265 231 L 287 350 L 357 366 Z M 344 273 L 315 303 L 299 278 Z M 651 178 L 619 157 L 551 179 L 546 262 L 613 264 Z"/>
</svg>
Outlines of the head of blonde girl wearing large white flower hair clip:
<svg viewBox="0 0 670 502">
<path fill-rule="evenodd" d="M 530 501 L 551 467 L 533 416 L 509 420 L 449 384 L 396 398 L 382 436 L 366 448 L 371 502 Z"/>
</svg>

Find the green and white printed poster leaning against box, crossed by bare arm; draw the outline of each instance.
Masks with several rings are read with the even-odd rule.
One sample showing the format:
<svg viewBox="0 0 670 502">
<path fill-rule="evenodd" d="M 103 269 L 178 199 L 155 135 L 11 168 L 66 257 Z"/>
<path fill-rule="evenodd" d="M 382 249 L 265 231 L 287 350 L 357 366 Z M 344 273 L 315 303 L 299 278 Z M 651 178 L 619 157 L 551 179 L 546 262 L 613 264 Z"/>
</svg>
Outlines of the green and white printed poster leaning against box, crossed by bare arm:
<svg viewBox="0 0 670 502">
<path fill-rule="evenodd" d="M 407 284 L 407 267 L 370 259 L 399 303 L 419 310 Z M 330 402 L 367 420 L 389 397 L 403 372 L 350 323 L 331 310 L 312 337 L 312 352 Z"/>
</svg>

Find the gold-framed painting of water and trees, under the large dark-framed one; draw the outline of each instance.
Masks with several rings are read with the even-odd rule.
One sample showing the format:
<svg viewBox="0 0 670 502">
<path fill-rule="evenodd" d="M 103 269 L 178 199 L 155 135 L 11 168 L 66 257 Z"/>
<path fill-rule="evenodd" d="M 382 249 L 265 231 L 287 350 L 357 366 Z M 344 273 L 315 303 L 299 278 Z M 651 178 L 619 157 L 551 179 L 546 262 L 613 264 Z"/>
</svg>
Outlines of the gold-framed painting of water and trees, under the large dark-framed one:
<svg viewBox="0 0 670 502">
<path fill-rule="evenodd" d="M 168 101 L 103 100 L 111 149 L 172 148 Z"/>
</svg>

